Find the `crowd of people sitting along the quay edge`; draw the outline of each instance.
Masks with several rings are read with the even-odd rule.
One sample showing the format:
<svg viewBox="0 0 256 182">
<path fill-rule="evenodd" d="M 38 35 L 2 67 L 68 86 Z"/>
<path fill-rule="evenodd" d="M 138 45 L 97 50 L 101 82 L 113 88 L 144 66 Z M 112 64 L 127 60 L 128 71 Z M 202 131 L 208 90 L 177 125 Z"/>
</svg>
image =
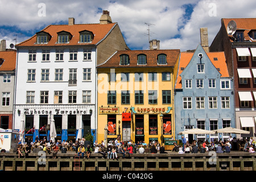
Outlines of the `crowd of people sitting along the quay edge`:
<svg viewBox="0 0 256 182">
<path fill-rule="evenodd" d="M 207 151 L 216 151 L 216 153 L 229 153 L 231 150 L 238 150 L 237 143 L 241 143 L 244 150 L 248 152 L 255 152 L 254 149 L 256 147 L 256 142 L 253 138 L 250 140 L 236 139 L 235 137 L 230 137 L 228 140 L 213 140 L 210 143 L 208 140 L 193 140 L 192 143 L 186 141 L 184 137 L 181 137 L 181 142 L 179 145 L 174 143 L 174 148 L 172 151 L 178 152 L 179 154 L 185 153 L 204 153 Z M 122 154 L 123 158 L 128 154 L 139 154 L 150 153 L 150 154 L 166 154 L 167 152 L 164 149 L 164 145 L 161 145 L 159 142 L 151 141 L 149 143 L 145 143 L 144 141 L 138 141 L 134 143 L 133 141 L 122 141 L 122 140 L 110 140 L 108 143 L 101 141 L 101 143 L 94 142 L 92 146 L 88 144 L 85 146 L 85 139 L 77 139 L 75 143 L 70 140 L 56 140 L 56 142 L 52 142 L 50 140 L 47 142 L 46 137 L 43 139 L 35 138 L 35 142 L 32 142 L 31 139 L 28 139 L 26 143 L 18 143 L 16 148 L 16 154 L 20 157 L 27 158 L 28 154 L 34 148 L 42 148 L 44 152 L 48 154 L 52 154 L 52 158 L 55 159 L 57 152 L 61 151 L 62 148 L 66 148 L 68 151 L 76 151 L 76 155 L 84 158 L 86 154 L 86 158 L 90 158 L 90 154 L 92 152 L 96 154 L 101 154 L 102 158 L 107 159 L 118 159 L 117 154 Z"/>
</svg>

